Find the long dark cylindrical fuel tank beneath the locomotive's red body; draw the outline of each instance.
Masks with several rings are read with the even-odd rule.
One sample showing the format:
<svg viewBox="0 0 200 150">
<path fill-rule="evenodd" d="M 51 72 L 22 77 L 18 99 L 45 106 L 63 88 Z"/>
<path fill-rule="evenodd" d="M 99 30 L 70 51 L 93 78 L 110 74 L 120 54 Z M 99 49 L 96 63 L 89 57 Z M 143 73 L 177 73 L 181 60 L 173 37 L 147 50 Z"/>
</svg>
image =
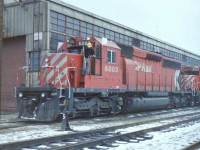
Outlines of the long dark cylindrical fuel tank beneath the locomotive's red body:
<svg viewBox="0 0 200 150">
<path fill-rule="evenodd" d="M 161 109 L 169 105 L 168 97 L 129 97 L 127 100 L 125 112 Z"/>
</svg>

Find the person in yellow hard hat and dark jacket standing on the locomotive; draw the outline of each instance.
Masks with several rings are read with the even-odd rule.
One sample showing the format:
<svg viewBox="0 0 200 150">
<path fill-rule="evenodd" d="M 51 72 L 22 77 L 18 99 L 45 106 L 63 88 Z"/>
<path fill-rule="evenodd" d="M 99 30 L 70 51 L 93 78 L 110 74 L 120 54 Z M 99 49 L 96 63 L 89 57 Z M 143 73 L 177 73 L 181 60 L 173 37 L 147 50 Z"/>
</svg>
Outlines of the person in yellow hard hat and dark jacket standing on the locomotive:
<svg viewBox="0 0 200 150">
<path fill-rule="evenodd" d="M 94 55 L 94 49 L 92 47 L 92 43 L 87 43 L 87 46 L 85 47 L 84 50 L 84 63 L 83 63 L 83 68 L 85 71 L 85 74 L 90 74 L 90 67 L 91 67 L 91 62 L 90 62 L 90 57 Z"/>
</svg>

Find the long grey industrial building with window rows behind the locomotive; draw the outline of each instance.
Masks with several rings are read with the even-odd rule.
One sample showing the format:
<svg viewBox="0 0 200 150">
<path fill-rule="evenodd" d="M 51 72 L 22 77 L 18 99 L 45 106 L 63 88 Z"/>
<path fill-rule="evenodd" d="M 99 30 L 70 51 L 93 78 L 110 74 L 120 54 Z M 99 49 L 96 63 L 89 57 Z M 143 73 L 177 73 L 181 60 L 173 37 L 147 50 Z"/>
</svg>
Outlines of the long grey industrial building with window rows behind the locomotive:
<svg viewBox="0 0 200 150">
<path fill-rule="evenodd" d="M 200 56 L 59 0 L 6 0 L 3 24 L 1 109 L 16 108 L 18 68 L 30 66 L 37 84 L 40 58 L 72 36 L 106 37 L 199 65 Z"/>
</svg>

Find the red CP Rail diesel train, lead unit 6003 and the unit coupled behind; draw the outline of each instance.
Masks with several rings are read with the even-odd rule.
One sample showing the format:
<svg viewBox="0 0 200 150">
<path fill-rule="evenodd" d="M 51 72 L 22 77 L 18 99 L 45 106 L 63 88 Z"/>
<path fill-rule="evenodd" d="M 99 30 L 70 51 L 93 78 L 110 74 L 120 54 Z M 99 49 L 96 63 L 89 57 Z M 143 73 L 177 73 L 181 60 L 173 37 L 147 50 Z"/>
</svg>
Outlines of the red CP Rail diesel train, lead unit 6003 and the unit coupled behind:
<svg viewBox="0 0 200 150">
<path fill-rule="evenodd" d="M 91 43 L 86 73 L 86 45 Z M 28 68 L 28 67 L 24 67 Z M 41 59 L 38 86 L 32 72 L 17 88 L 19 118 L 55 120 L 67 109 L 71 117 L 198 105 L 198 67 L 185 67 L 161 54 L 116 44 L 104 38 L 75 37 L 58 53 Z"/>
</svg>

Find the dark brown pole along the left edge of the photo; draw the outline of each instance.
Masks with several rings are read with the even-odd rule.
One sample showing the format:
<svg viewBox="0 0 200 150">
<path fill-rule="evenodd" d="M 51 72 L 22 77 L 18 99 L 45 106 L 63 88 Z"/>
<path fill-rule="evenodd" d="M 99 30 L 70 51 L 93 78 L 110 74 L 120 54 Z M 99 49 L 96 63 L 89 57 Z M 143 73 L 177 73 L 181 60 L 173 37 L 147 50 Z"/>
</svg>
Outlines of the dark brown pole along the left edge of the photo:
<svg viewBox="0 0 200 150">
<path fill-rule="evenodd" d="M 0 0 L 0 116 L 1 116 L 1 83 L 2 83 L 2 52 L 3 52 L 3 10 L 4 0 Z"/>
</svg>

